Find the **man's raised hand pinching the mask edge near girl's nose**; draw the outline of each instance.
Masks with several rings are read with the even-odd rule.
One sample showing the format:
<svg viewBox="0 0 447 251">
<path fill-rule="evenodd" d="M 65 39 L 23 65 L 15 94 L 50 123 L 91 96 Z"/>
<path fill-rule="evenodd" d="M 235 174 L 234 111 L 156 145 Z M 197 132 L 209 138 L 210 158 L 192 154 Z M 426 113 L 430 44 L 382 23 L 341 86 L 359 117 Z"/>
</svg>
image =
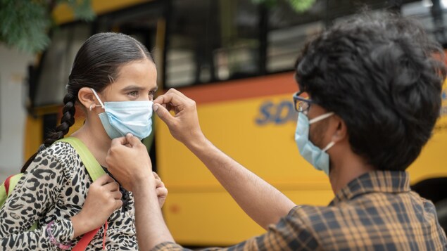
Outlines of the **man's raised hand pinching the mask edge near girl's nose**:
<svg viewBox="0 0 447 251">
<path fill-rule="evenodd" d="M 168 125 L 172 136 L 185 145 L 205 139 L 197 117 L 196 102 L 180 91 L 169 89 L 158 96 L 153 101 L 153 110 Z M 170 114 L 170 110 L 175 112 L 174 116 Z"/>
</svg>

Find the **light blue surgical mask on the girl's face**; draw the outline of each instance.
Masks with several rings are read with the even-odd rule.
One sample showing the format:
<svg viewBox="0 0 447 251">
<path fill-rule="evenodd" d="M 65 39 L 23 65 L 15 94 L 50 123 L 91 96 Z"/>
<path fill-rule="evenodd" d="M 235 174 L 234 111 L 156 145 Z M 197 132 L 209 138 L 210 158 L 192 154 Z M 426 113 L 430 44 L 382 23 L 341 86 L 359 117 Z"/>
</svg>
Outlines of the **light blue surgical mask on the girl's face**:
<svg viewBox="0 0 447 251">
<path fill-rule="evenodd" d="M 152 101 L 120 101 L 102 103 L 96 91 L 104 112 L 99 113 L 99 119 L 111 139 L 130 133 L 139 140 L 146 138 L 152 131 Z"/>
</svg>

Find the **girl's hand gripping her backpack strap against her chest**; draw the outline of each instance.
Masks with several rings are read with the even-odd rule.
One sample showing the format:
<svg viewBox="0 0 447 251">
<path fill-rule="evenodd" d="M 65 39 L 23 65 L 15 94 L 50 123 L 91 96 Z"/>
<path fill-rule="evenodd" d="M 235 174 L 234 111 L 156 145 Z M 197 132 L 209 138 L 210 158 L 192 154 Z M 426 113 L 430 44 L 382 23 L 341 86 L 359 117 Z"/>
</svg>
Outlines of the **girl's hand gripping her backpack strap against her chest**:
<svg viewBox="0 0 447 251">
<path fill-rule="evenodd" d="M 120 186 L 111 176 L 104 174 L 96 179 L 89 188 L 81 212 L 70 218 L 75 231 L 73 238 L 102 226 L 113 211 L 122 206 L 121 197 Z"/>
</svg>

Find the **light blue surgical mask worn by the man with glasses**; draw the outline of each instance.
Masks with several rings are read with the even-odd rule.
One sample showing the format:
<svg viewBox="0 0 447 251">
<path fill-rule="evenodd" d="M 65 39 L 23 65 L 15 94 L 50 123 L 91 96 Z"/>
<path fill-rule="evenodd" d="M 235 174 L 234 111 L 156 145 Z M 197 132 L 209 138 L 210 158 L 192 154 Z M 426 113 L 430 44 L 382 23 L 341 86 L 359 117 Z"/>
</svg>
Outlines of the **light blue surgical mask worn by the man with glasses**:
<svg viewBox="0 0 447 251">
<path fill-rule="evenodd" d="M 309 128 L 310 124 L 325 120 L 332 115 L 334 115 L 334 112 L 328 112 L 309 121 L 308 117 L 304 115 L 303 112 L 299 112 L 298 124 L 296 124 L 295 131 L 296 146 L 298 146 L 301 156 L 312 164 L 315 169 L 325 172 L 327 176 L 329 176 L 329 155 L 326 151 L 329 150 L 329 148 L 332 148 L 335 143 L 333 141 L 330 142 L 325 149 L 318 148 L 309 140 Z"/>
</svg>

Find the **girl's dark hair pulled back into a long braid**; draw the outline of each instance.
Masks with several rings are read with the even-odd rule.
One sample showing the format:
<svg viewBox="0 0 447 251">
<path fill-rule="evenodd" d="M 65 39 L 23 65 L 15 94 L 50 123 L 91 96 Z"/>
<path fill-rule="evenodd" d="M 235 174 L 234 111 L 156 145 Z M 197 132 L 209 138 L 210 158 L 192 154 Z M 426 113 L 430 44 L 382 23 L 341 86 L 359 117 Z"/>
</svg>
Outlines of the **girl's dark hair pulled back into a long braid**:
<svg viewBox="0 0 447 251">
<path fill-rule="evenodd" d="M 95 91 L 101 92 L 113 82 L 113 79 L 119 77 L 120 67 L 144 59 L 153 62 L 151 53 L 146 46 L 130 36 L 104 32 L 89 37 L 77 51 L 68 77 L 67 94 L 63 98 L 61 124 L 46 137 L 39 151 L 51 146 L 58 139 L 63 139 L 75 123 L 75 103 L 79 102 L 77 93 L 82 87 L 93 88 Z M 25 172 L 37 153 L 34 153 L 25 162 L 21 172 Z"/>
</svg>

